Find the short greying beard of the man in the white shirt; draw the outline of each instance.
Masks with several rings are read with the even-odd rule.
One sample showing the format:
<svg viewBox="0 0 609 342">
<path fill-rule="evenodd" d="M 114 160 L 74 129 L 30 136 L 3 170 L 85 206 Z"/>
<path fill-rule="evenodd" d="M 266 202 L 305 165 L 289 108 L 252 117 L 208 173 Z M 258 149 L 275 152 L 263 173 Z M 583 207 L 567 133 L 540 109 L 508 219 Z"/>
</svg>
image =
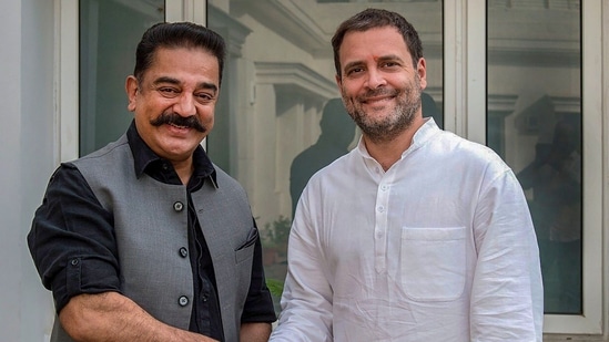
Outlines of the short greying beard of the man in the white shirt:
<svg viewBox="0 0 609 342">
<path fill-rule="evenodd" d="M 420 108 L 420 76 L 415 75 L 410 86 L 403 89 L 377 89 L 369 90 L 363 95 L 348 97 L 345 87 L 341 89 L 345 107 L 353 121 L 359 126 L 364 135 L 373 143 L 390 142 L 413 125 L 417 111 Z M 389 113 L 380 117 L 374 117 L 366 113 L 362 103 L 373 96 L 388 95 L 397 100 L 397 104 Z"/>
</svg>

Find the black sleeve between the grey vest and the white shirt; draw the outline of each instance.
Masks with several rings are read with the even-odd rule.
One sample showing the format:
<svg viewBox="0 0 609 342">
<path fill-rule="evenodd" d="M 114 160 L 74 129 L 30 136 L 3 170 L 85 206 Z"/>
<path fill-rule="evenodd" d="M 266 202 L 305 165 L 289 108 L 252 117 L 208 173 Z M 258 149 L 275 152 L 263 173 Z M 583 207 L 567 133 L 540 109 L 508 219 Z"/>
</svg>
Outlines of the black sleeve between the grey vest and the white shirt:
<svg viewBox="0 0 609 342">
<path fill-rule="evenodd" d="M 256 222 L 254 221 L 254 226 Z M 277 320 L 275 315 L 275 309 L 273 307 L 273 299 L 271 298 L 271 291 L 266 287 L 266 279 L 264 277 L 264 268 L 262 265 L 262 243 L 260 236 L 256 239 L 254 246 L 254 261 L 252 265 L 252 281 L 250 282 L 250 290 L 247 292 L 247 299 L 243 307 L 243 313 L 241 315 L 242 323 L 253 322 L 274 322 Z"/>
</svg>

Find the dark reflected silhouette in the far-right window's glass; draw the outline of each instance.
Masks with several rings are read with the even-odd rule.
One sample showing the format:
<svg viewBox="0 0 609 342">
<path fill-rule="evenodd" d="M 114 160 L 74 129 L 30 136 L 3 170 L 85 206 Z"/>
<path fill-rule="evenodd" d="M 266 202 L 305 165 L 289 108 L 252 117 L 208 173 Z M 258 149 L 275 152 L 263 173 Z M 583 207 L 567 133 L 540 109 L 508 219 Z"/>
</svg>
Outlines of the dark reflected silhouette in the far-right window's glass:
<svg viewBox="0 0 609 342">
<path fill-rule="evenodd" d="M 517 177 L 525 190 L 532 190 L 529 208 L 539 243 L 545 311 L 580 314 L 580 117 L 561 117 L 552 133 L 550 143 L 537 143 L 535 159 Z"/>
</svg>

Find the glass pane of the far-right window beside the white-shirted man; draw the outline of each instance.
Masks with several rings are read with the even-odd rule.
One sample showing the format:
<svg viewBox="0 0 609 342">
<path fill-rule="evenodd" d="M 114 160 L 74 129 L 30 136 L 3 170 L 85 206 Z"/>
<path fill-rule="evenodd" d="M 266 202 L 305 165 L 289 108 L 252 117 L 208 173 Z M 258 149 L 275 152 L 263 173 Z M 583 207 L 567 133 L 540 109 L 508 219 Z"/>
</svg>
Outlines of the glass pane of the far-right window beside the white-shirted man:
<svg viewBox="0 0 609 342">
<path fill-rule="evenodd" d="M 525 189 L 539 243 L 546 313 L 580 314 L 580 3 L 487 4 L 487 143 Z"/>
</svg>

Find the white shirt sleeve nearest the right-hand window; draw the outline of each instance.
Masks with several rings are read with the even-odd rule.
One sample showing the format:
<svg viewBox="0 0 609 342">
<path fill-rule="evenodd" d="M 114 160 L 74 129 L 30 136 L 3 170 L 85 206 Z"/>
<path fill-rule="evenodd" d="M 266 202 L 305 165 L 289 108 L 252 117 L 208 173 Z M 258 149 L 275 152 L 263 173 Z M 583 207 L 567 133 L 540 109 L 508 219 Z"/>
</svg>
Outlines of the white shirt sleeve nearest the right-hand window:
<svg viewBox="0 0 609 342">
<path fill-rule="evenodd" d="M 544 291 L 535 229 L 514 173 L 483 188 L 474 234 L 471 341 L 541 342 Z"/>
</svg>

